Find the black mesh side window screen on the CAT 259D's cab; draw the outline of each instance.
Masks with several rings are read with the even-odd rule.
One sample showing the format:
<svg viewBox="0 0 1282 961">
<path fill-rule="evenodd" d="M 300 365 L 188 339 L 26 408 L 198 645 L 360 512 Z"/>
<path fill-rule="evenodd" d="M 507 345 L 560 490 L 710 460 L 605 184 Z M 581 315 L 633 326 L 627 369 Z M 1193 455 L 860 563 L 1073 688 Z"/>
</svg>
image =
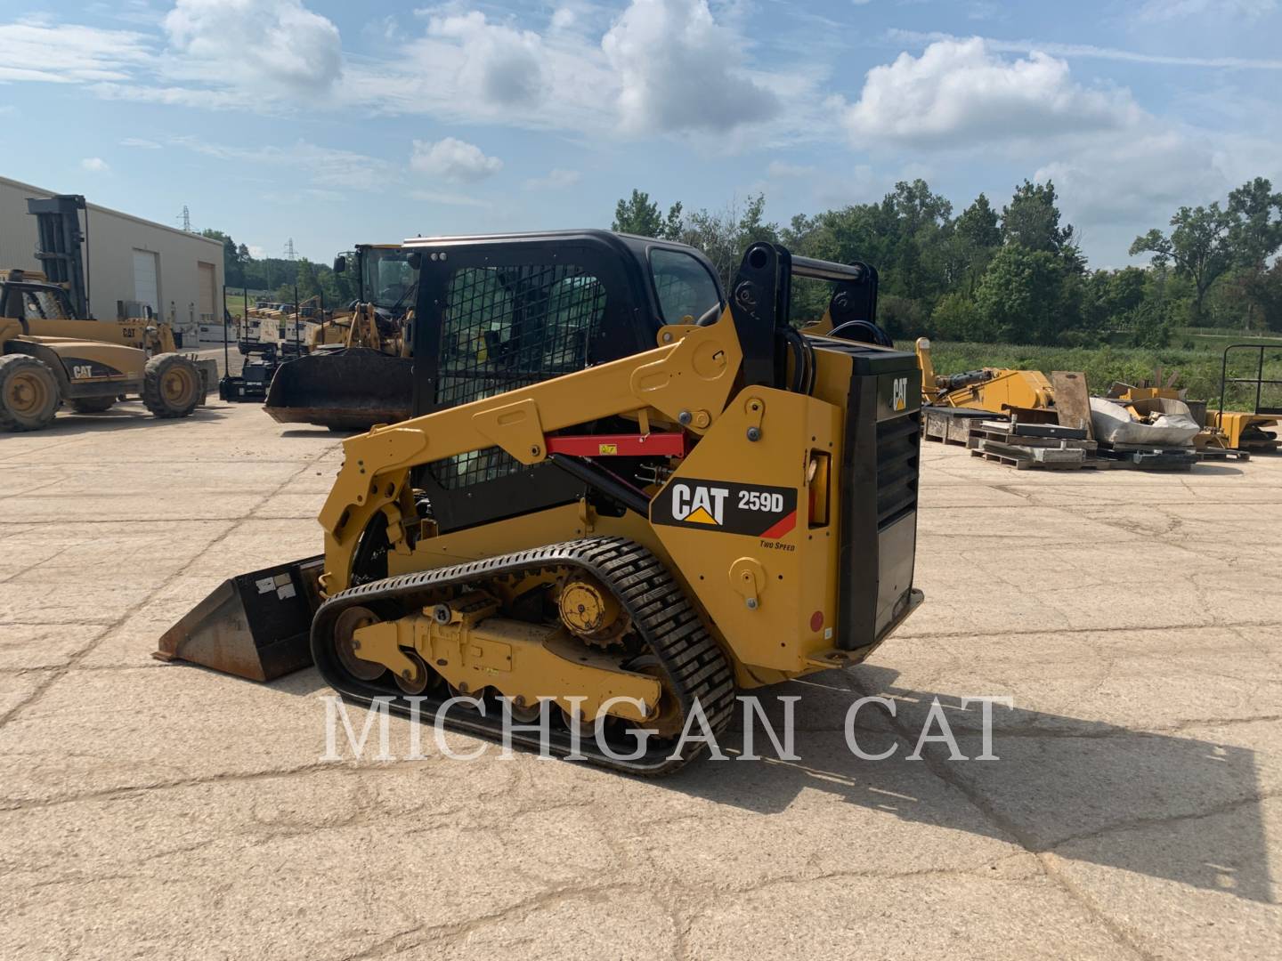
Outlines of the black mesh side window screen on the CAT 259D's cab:
<svg viewBox="0 0 1282 961">
<path fill-rule="evenodd" d="M 450 278 L 436 404 L 453 407 L 582 370 L 605 316 L 605 287 L 574 264 L 468 267 Z M 497 447 L 436 461 L 445 488 L 518 470 Z"/>
</svg>

